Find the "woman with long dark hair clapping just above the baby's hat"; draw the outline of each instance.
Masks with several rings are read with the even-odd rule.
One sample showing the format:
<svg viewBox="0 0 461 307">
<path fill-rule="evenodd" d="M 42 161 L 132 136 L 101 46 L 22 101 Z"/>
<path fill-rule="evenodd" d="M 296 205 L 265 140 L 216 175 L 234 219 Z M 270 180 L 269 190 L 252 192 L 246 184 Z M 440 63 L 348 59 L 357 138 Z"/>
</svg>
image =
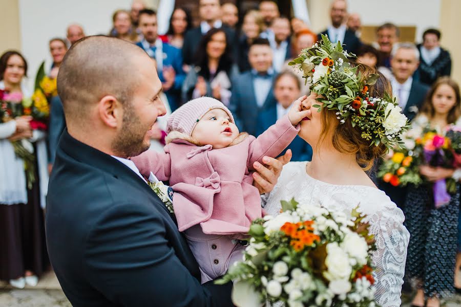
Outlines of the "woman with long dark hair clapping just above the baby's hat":
<svg viewBox="0 0 461 307">
<path fill-rule="evenodd" d="M 182 84 L 183 102 L 209 96 L 229 105 L 233 80 L 238 75 L 231 43 L 222 29 L 211 29 L 202 37 L 195 64 Z"/>
</svg>

